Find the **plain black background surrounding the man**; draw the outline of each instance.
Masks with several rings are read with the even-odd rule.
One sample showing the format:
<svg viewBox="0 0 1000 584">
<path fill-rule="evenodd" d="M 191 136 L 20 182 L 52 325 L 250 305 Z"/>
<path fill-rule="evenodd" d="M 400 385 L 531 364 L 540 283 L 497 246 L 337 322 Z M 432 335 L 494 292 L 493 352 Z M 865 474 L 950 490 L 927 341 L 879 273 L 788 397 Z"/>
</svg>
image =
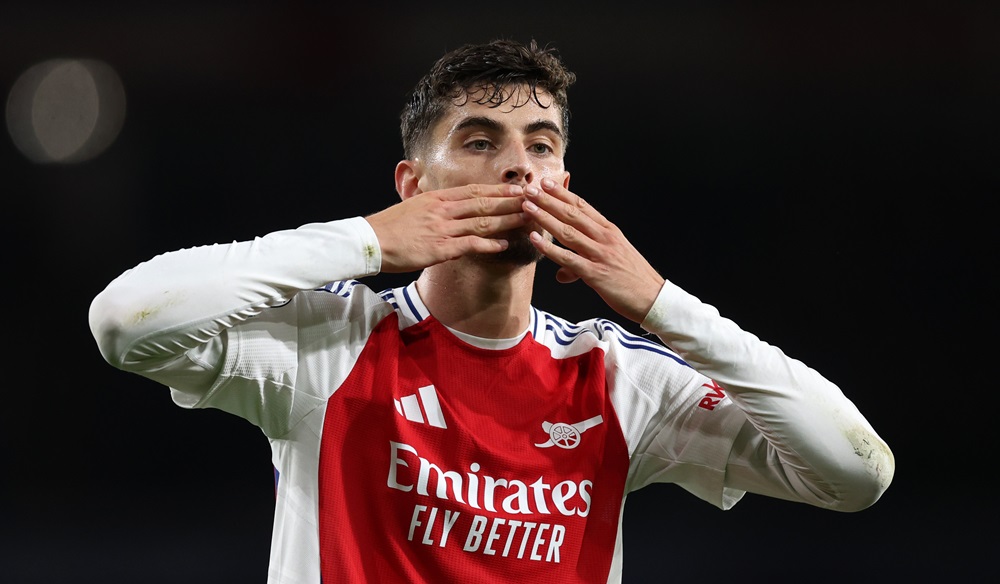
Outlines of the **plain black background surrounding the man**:
<svg viewBox="0 0 1000 584">
<path fill-rule="evenodd" d="M 5 95 L 79 57 L 128 99 L 88 162 L 35 164 L 0 136 L 0 581 L 265 581 L 266 440 L 112 369 L 90 301 L 162 251 L 393 203 L 407 92 L 498 36 L 551 43 L 579 75 L 573 189 L 666 277 L 839 384 L 896 457 L 855 514 L 637 492 L 625 581 L 996 577 L 1000 3 L 346 4 L 0 7 Z M 582 284 L 557 298 L 552 273 L 537 305 L 611 316 Z"/>
</svg>

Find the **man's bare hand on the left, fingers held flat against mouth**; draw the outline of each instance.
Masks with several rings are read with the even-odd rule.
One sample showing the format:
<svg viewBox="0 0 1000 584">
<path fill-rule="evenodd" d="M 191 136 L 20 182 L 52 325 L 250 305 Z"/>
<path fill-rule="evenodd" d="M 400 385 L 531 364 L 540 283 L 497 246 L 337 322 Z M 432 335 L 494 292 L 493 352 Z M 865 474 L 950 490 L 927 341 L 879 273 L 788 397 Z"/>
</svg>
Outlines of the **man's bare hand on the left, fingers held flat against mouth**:
<svg viewBox="0 0 1000 584">
<path fill-rule="evenodd" d="M 466 185 L 414 195 L 365 217 L 382 248 L 382 271 L 414 272 L 467 253 L 507 249 L 499 233 L 522 227 L 517 185 Z"/>
</svg>

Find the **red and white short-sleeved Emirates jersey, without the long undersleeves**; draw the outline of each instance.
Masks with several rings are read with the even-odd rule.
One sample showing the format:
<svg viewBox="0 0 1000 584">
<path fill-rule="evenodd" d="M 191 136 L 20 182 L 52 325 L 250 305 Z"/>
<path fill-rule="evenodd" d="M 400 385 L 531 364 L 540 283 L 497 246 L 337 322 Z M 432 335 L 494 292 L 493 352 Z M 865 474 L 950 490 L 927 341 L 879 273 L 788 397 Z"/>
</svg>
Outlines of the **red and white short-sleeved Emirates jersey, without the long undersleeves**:
<svg viewBox="0 0 1000 584">
<path fill-rule="evenodd" d="M 532 309 L 520 339 L 474 339 L 430 316 L 414 284 L 337 282 L 222 339 L 220 381 L 196 404 L 175 399 L 255 408 L 278 470 L 278 582 L 607 582 L 630 478 L 706 464 L 721 476 L 744 419 L 672 351 L 610 321 Z M 683 452 L 706 433 L 718 450 L 631 466 L 643 441 Z"/>
</svg>

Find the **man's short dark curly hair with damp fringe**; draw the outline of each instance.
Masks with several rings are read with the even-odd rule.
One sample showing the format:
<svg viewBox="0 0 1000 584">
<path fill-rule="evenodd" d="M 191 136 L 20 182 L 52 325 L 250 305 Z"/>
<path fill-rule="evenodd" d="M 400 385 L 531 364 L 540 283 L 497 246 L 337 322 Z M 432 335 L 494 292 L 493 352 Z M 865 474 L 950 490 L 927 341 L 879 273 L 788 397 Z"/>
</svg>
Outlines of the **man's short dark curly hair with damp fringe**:
<svg viewBox="0 0 1000 584">
<path fill-rule="evenodd" d="M 497 39 L 483 44 L 467 44 L 446 53 L 417 83 L 400 114 L 403 155 L 413 159 L 427 141 L 430 128 L 450 104 L 473 100 L 499 107 L 526 86 L 528 97 L 542 107 L 538 90 L 548 92 L 562 114 L 565 145 L 569 144 L 569 104 L 566 90 L 576 82 L 554 49 Z M 524 105 L 515 98 L 513 107 Z"/>
</svg>

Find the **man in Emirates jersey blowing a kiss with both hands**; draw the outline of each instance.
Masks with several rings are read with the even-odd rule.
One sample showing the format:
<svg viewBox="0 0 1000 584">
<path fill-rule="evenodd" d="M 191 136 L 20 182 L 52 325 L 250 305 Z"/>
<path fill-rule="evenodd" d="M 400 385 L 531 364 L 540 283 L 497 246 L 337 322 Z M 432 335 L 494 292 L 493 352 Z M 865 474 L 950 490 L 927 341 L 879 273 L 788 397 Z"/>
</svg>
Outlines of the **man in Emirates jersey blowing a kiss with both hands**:
<svg viewBox="0 0 1000 584">
<path fill-rule="evenodd" d="M 840 511 L 888 487 L 889 448 L 836 386 L 569 190 L 573 82 L 535 43 L 457 49 L 403 112 L 401 202 L 162 254 L 94 300 L 112 365 L 270 440 L 270 582 L 617 582 L 649 483 Z M 533 307 L 542 257 L 663 343 Z"/>
</svg>

